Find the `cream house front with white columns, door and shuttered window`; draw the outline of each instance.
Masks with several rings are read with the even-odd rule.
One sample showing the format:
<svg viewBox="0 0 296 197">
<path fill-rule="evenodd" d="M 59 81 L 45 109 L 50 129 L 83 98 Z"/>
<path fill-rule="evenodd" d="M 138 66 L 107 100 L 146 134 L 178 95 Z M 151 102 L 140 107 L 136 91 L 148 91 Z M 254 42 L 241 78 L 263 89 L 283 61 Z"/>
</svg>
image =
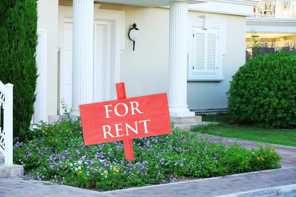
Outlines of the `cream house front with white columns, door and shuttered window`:
<svg viewBox="0 0 296 197">
<path fill-rule="evenodd" d="M 259 0 L 38 0 L 32 123 L 79 104 L 167 93 L 171 116 L 227 108 L 245 63 L 246 17 Z M 136 24 L 138 38 L 129 37 Z"/>
</svg>

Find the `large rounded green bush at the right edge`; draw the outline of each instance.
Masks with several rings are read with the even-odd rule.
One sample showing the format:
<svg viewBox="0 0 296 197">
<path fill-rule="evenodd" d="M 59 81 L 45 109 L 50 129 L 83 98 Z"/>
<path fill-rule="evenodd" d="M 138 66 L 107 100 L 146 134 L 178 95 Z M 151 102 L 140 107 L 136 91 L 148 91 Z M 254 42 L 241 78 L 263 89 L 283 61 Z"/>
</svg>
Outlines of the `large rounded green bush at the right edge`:
<svg viewBox="0 0 296 197">
<path fill-rule="evenodd" d="M 235 121 L 295 128 L 296 54 L 280 50 L 250 59 L 232 76 L 226 94 Z"/>
</svg>

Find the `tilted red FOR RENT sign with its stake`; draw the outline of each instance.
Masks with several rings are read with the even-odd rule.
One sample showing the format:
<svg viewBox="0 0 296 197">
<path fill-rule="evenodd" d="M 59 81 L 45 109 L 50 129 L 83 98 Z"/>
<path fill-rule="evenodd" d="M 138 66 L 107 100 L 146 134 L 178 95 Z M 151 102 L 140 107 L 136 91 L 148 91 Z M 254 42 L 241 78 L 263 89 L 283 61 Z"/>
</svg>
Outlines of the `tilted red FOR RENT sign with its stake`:
<svg viewBox="0 0 296 197">
<path fill-rule="evenodd" d="M 84 144 L 123 140 L 125 158 L 134 160 L 132 139 L 172 132 L 166 93 L 126 99 L 124 83 L 117 100 L 79 105 Z"/>
</svg>

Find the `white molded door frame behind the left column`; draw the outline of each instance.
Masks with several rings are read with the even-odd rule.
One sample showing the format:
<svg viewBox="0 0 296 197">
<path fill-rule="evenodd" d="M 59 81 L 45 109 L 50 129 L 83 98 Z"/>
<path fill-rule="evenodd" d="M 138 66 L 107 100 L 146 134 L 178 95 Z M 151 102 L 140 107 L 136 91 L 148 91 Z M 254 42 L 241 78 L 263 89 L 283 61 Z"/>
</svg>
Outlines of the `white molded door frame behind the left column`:
<svg viewBox="0 0 296 197">
<path fill-rule="evenodd" d="M 124 51 L 124 39 L 125 39 L 125 12 L 117 10 L 99 9 L 100 4 L 94 4 L 94 24 L 107 22 L 110 24 L 110 31 L 108 31 L 108 36 L 111 40 L 111 55 L 110 55 L 110 80 L 108 80 L 110 90 L 107 98 L 116 99 L 116 88 L 115 83 L 120 80 L 120 55 Z M 73 7 L 72 6 L 62 6 L 59 5 L 59 48 L 60 48 L 60 62 L 59 62 L 59 76 L 58 80 L 60 84 L 58 85 L 59 98 L 58 98 L 58 114 L 63 114 L 63 109 L 60 104 L 60 100 L 64 98 L 64 87 L 63 87 L 63 77 L 64 77 L 64 23 L 73 23 Z M 112 85 L 114 84 L 114 85 Z M 107 84 L 108 85 L 108 84 Z"/>
</svg>

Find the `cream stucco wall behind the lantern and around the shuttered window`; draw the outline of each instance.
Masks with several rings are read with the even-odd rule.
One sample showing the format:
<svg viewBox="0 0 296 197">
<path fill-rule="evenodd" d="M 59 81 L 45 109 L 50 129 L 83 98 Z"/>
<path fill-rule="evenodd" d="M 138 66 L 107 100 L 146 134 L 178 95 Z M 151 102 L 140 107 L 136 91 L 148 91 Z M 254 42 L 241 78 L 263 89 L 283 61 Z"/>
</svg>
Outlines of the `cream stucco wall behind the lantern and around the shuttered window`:
<svg viewBox="0 0 296 197">
<path fill-rule="evenodd" d="M 72 6 L 72 0 L 60 0 Z M 146 8 L 102 3 L 100 9 L 125 11 L 125 50 L 120 60 L 120 79 L 125 82 L 127 97 L 168 92 L 169 9 Z M 222 82 L 188 82 L 189 109 L 226 108 L 225 92 L 231 76 L 245 62 L 245 17 L 189 11 L 189 17 L 209 14 L 214 20 L 226 20 L 226 55 L 223 59 Z M 128 29 L 136 23 L 140 29 L 135 51 Z"/>
</svg>

